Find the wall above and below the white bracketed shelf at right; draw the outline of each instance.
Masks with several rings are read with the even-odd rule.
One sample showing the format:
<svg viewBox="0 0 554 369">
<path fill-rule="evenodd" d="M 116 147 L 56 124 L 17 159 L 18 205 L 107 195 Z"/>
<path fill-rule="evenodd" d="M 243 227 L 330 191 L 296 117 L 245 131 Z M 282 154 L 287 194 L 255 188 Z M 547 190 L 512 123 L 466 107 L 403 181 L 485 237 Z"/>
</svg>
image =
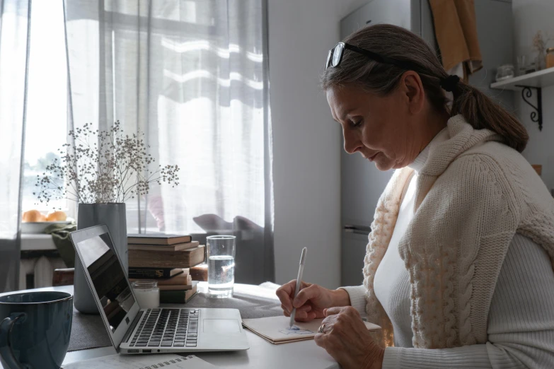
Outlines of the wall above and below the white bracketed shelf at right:
<svg viewBox="0 0 554 369">
<path fill-rule="evenodd" d="M 516 56 L 526 54 L 527 57 L 536 55 L 533 52 L 533 35 L 542 30 L 543 36 L 548 34 L 553 38 L 546 47 L 554 47 L 554 1 L 552 0 L 513 0 L 514 15 L 514 65 Z M 531 97 L 536 105 L 536 95 Z M 542 178 L 548 189 L 554 188 L 554 87 L 543 88 L 543 130 L 538 130 L 538 124 L 531 122 L 529 115 L 533 111 L 529 105 L 521 100 L 517 93 L 517 115 L 529 131 L 529 144 L 524 156 L 531 164 L 543 165 Z"/>
</svg>

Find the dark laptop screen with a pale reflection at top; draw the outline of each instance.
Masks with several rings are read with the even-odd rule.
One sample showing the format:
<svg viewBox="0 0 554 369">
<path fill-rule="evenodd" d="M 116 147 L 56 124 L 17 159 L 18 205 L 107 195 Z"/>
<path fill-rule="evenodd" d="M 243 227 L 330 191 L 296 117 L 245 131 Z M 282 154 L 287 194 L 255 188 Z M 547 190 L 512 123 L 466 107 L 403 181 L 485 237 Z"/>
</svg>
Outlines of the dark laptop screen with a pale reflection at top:
<svg viewBox="0 0 554 369">
<path fill-rule="evenodd" d="M 76 242 L 75 246 L 79 248 L 81 262 L 91 275 L 94 290 L 114 333 L 134 305 L 134 298 L 120 261 L 113 252 L 110 236 L 103 233 Z"/>
</svg>

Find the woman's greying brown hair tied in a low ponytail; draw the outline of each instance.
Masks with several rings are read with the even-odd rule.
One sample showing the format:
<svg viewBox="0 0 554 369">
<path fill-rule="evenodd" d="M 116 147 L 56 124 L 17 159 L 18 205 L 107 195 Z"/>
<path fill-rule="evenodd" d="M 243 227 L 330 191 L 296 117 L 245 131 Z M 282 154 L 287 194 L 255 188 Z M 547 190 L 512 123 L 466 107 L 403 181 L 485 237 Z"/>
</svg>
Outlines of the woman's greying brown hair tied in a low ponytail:
<svg viewBox="0 0 554 369">
<path fill-rule="evenodd" d="M 352 33 L 345 42 L 408 63 L 420 75 L 432 107 L 437 111 L 448 109 L 449 100 L 441 87 L 441 81 L 449 75 L 421 37 L 396 25 L 379 24 Z M 329 67 L 321 76 L 324 90 L 334 86 L 354 85 L 372 93 L 387 95 L 398 86 L 405 72 L 398 66 L 374 61 L 349 49 L 344 52 L 340 64 Z M 492 102 L 480 90 L 462 81 L 454 85 L 452 94 L 454 101 L 450 107 L 451 117 L 461 114 L 473 128 L 495 131 L 508 146 L 519 152 L 524 150 L 529 135 L 516 117 Z"/>
</svg>

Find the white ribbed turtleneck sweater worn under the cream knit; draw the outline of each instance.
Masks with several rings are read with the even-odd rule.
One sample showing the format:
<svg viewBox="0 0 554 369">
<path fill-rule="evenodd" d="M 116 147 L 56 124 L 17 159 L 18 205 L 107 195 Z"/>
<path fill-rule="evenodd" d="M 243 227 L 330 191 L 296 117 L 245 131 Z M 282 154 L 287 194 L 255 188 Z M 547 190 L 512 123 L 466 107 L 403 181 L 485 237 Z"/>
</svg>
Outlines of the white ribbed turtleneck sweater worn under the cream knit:
<svg viewBox="0 0 554 369">
<path fill-rule="evenodd" d="M 388 368 L 554 368 L 554 271 L 548 254 L 516 234 L 502 264 L 490 304 L 487 344 L 458 348 L 413 348 L 410 281 L 398 243 L 414 217 L 415 185 L 432 147 L 449 139 L 443 129 L 417 156 L 405 186 L 391 242 L 375 274 L 374 291 L 393 324 Z M 364 286 L 345 287 L 350 302 L 365 313 Z"/>
</svg>

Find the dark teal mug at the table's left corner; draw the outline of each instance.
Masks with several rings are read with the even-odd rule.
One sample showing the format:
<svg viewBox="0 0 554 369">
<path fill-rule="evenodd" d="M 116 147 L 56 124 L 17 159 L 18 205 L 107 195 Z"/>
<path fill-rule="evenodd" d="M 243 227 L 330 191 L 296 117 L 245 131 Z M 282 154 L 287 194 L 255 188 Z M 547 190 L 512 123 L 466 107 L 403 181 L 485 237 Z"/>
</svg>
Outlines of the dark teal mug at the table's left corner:
<svg viewBox="0 0 554 369">
<path fill-rule="evenodd" d="M 73 296 L 61 291 L 0 296 L 0 362 L 4 369 L 59 369 L 67 353 Z"/>
</svg>

